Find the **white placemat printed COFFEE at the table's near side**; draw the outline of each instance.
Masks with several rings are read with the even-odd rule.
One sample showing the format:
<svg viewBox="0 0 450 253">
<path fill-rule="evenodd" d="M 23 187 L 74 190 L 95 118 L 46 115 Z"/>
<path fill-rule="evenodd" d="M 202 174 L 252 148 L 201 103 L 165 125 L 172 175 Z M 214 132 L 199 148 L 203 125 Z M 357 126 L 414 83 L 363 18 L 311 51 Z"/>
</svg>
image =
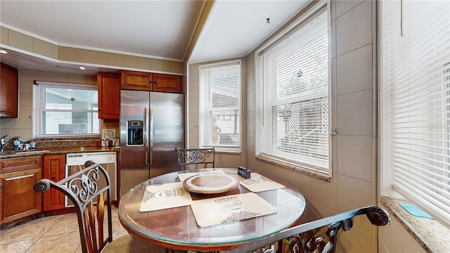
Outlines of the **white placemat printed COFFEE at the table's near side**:
<svg viewBox="0 0 450 253">
<path fill-rule="evenodd" d="M 255 193 L 228 195 L 191 203 L 192 211 L 198 226 L 214 226 L 219 224 L 251 219 L 278 212 Z"/>
</svg>

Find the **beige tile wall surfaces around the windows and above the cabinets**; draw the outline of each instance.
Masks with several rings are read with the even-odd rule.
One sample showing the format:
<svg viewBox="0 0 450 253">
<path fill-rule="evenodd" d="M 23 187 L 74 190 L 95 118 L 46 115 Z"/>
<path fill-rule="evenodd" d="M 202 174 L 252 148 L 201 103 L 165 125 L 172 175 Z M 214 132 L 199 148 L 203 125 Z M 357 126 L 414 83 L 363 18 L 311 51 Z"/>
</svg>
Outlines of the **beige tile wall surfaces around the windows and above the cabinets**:
<svg viewBox="0 0 450 253">
<path fill-rule="evenodd" d="M 373 67 L 375 54 L 375 1 L 331 1 L 332 119 L 338 136 L 333 137 L 333 179 L 330 182 L 266 164 L 255 159 L 255 55 L 245 60 L 246 81 L 243 107 L 246 131 L 242 155 L 218 155 L 218 166 L 250 169 L 274 174 L 293 183 L 307 199 L 304 221 L 330 216 L 348 209 L 376 203 L 377 176 L 374 155 L 378 150 L 379 127 L 374 127 Z M 140 68 L 183 73 L 183 63 L 101 51 L 55 46 L 46 41 L 1 28 L 1 44 L 65 61 Z M 186 84 L 186 145 L 198 146 L 198 65 L 189 65 Z M 0 134 L 32 138 L 32 80 L 95 84 L 95 77 L 54 72 L 20 70 L 20 115 L 18 119 L 0 118 Z M 378 89 L 378 93 L 379 93 Z M 378 103 L 379 104 L 379 103 Z M 103 127 L 117 127 L 106 122 Z M 117 131 L 117 130 L 116 130 Z M 375 133 L 375 134 L 374 134 Z M 378 138 L 378 139 L 377 139 Z M 379 150 L 378 150 L 379 152 Z M 379 166 L 378 166 L 379 168 Z M 364 218 L 364 217 L 362 217 Z M 411 236 L 392 221 L 377 229 L 366 219 L 355 219 L 351 231 L 340 233 L 338 252 L 423 252 Z M 402 240 L 397 240 L 401 235 Z M 396 240 L 394 240 L 396 239 Z"/>
</svg>

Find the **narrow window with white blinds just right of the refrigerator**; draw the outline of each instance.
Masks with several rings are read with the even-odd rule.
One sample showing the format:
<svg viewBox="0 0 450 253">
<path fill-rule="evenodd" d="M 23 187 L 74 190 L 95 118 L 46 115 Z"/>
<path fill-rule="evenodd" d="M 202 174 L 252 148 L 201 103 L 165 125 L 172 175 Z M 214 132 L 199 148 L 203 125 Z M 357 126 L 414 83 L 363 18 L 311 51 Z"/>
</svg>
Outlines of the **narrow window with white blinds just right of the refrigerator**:
<svg viewBox="0 0 450 253">
<path fill-rule="evenodd" d="M 200 145 L 240 152 L 240 60 L 200 66 Z"/>
</svg>

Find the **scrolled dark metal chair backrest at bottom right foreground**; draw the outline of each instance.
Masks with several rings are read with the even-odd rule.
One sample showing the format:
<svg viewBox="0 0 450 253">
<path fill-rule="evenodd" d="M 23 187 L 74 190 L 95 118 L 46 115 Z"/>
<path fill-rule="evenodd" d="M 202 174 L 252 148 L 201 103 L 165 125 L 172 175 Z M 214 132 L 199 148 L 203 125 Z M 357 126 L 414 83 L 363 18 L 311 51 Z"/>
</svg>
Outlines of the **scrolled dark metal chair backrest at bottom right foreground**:
<svg viewBox="0 0 450 253">
<path fill-rule="evenodd" d="M 353 227 L 354 216 L 361 214 L 366 214 L 367 219 L 375 226 L 385 226 L 390 222 L 389 214 L 380 207 L 364 207 L 294 226 L 265 238 L 252 240 L 237 249 L 231 250 L 229 253 L 276 253 L 274 249 L 276 243 L 278 243 L 278 252 L 281 252 L 279 250 L 281 247 L 283 249 L 288 247 L 290 252 L 293 253 L 335 252 L 340 229 L 349 231 Z M 326 229 L 326 239 L 316 236 L 322 235 L 321 228 L 325 228 L 325 226 L 328 226 Z"/>
</svg>

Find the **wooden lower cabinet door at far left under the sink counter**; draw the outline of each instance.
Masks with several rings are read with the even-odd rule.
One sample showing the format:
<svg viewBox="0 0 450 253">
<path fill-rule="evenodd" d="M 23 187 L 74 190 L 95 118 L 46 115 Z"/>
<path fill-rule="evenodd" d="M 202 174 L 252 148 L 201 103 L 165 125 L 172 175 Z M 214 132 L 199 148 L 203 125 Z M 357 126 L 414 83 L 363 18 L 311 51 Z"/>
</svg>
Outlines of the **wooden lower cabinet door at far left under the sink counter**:
<svg viewBox="0 0 450 253">
<path fill-rule="evenodd" d="M 42 178 L 42 169 L 0 174 L 0 223 L 42 212 L 42 196 L 33 190 Z"/>
</svg>

